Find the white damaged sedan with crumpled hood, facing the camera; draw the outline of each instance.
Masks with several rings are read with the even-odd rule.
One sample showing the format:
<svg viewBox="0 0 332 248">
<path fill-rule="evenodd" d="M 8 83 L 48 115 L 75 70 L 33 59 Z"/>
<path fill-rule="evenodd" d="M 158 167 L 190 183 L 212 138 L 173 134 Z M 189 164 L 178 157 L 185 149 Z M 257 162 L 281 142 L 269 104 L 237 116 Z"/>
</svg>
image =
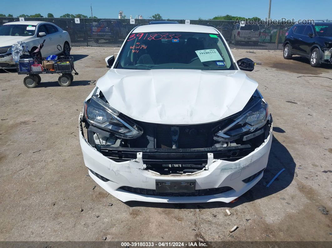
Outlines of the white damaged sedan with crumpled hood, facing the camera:
<svg viewBox="0 0 332 248">
<path fill-rule="evenodd" d="M 213 27 L 135 27 L 84 102 L 84 163 L 123 202 L 230 202 L 263 176 L 272 117 Z"/>
</svg>

